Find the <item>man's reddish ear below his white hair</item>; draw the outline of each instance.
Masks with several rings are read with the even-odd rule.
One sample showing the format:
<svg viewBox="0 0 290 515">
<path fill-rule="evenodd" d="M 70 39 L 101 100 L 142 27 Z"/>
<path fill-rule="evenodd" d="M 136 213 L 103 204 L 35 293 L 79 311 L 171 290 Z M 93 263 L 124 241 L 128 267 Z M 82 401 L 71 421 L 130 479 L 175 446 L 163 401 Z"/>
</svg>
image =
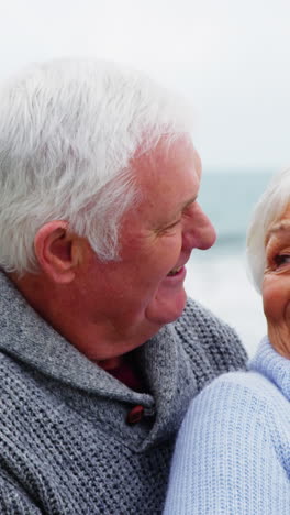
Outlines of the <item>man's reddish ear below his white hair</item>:
<svg viewBox="0 0 290 515">
<path fill-rule="evenodd" d="M 79 240 L 67 231 L 68 222 L 45 223 L 34 238 L 34 251 L 42 271 L 55 283 L 70 283 L 79 261 Z"/>
</svg>

